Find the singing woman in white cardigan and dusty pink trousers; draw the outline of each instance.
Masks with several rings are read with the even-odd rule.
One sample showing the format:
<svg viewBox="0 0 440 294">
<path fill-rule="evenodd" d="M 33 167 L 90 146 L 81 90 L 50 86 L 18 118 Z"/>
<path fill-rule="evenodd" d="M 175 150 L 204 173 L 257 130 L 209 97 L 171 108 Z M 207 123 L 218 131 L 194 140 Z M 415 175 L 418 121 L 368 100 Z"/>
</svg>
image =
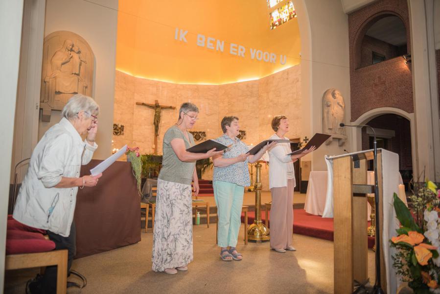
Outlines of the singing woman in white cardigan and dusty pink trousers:
<svg viewBox="0 0 440 294">
<path fill-rule="evenodd" d="M 272 129 L 276 132 L 269 139 L 287 139 L 289 121 L 283 115 L 275 116 Z M 295 188 L 295 171 L 293 163 L 304 155 L 315 150 L 311 147 L 300 154 L 286 155 L 292 152 L 289 143 L 278 143 L 269 150 L 269 188 L 272 195 L 270 213 L 271 249 L 284 253 L 295 251 L 292 246 L 293 234 L 293 190 Z"/>
</svg>

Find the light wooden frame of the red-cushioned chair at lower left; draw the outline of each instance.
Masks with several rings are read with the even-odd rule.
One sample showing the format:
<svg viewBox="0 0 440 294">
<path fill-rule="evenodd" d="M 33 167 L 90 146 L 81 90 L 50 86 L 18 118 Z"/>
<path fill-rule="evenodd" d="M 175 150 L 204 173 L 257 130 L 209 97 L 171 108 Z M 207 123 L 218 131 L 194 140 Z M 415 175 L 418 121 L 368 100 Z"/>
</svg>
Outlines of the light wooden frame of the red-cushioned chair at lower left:
<svg viewBox="0 0 440 294">
<path fill-rule="evenodd" d="M 57 266 L 57 294 L 67 291 L 67 250 L 6 255 L 5 270 Z"/>
</svg>

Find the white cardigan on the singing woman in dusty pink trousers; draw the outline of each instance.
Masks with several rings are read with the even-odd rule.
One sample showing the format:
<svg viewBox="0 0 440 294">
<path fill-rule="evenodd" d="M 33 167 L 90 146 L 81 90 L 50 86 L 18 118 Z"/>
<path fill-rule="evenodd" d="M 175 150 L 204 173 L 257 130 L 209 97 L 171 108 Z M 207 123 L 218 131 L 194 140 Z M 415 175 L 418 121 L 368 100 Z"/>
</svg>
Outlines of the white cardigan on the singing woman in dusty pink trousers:
<svg viewBox="0 0 440 294">
<path fill-rule="evenodd" d="M 273 134 L 269 139 L 286 139 L 279 138 L 277 134 Z M 283 145 L 288 146 L 284 148 Z M 286 151 L 290 150 L 289 143 L 277 143 L 269 150 L 269 189 L 278 187 L 287 187 L 287 165 L 291 164 L 293 168 L 292 158 Z M 295 182 L 295 175 L 293 177 Z"/>
</svg>

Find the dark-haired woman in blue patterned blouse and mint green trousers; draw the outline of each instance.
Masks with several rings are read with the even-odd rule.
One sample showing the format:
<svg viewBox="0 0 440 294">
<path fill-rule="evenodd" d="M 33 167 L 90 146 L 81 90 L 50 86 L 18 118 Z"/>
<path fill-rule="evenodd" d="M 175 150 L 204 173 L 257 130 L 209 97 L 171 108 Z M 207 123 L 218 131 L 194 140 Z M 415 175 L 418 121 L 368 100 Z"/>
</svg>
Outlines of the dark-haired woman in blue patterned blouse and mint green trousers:
<svg viewBox="0 0 440 294">
<path fill-rule="evenodd" d="M 241 224 L 244 187 L 251 185 L 248 162 L 254 163 L 259 160 L 264 152 L 276 143 L 266 145 L 255 155 L 249 155 L 247 153 L 249 148 L 237 138 L 240 128 L 238 118 L 224 117 L 221 126 L 224 135 L 218 137 L 216 141 L 232 146 L 223 154 L 212 157 L 214 162 L 212 180 L 218 215 L 218 246 L 221 247 L 222 260 L 241 260 L 242 255 L 237 252 L 235 246 Z"/>
</svg>

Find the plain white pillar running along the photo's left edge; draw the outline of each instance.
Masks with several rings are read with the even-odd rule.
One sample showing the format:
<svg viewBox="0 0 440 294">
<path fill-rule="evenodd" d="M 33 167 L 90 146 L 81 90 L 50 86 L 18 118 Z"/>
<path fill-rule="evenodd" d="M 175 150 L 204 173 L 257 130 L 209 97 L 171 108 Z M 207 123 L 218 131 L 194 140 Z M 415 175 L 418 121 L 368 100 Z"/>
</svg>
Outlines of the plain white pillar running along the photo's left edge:
<svg viewBox="0 0 440 294">
<path fill-rule="evenodd" d="M 15 103 L 20 63 L 23 0 L 0 1 L 0 292 L 4 288 L 6 219 Z"/>
</svg>

